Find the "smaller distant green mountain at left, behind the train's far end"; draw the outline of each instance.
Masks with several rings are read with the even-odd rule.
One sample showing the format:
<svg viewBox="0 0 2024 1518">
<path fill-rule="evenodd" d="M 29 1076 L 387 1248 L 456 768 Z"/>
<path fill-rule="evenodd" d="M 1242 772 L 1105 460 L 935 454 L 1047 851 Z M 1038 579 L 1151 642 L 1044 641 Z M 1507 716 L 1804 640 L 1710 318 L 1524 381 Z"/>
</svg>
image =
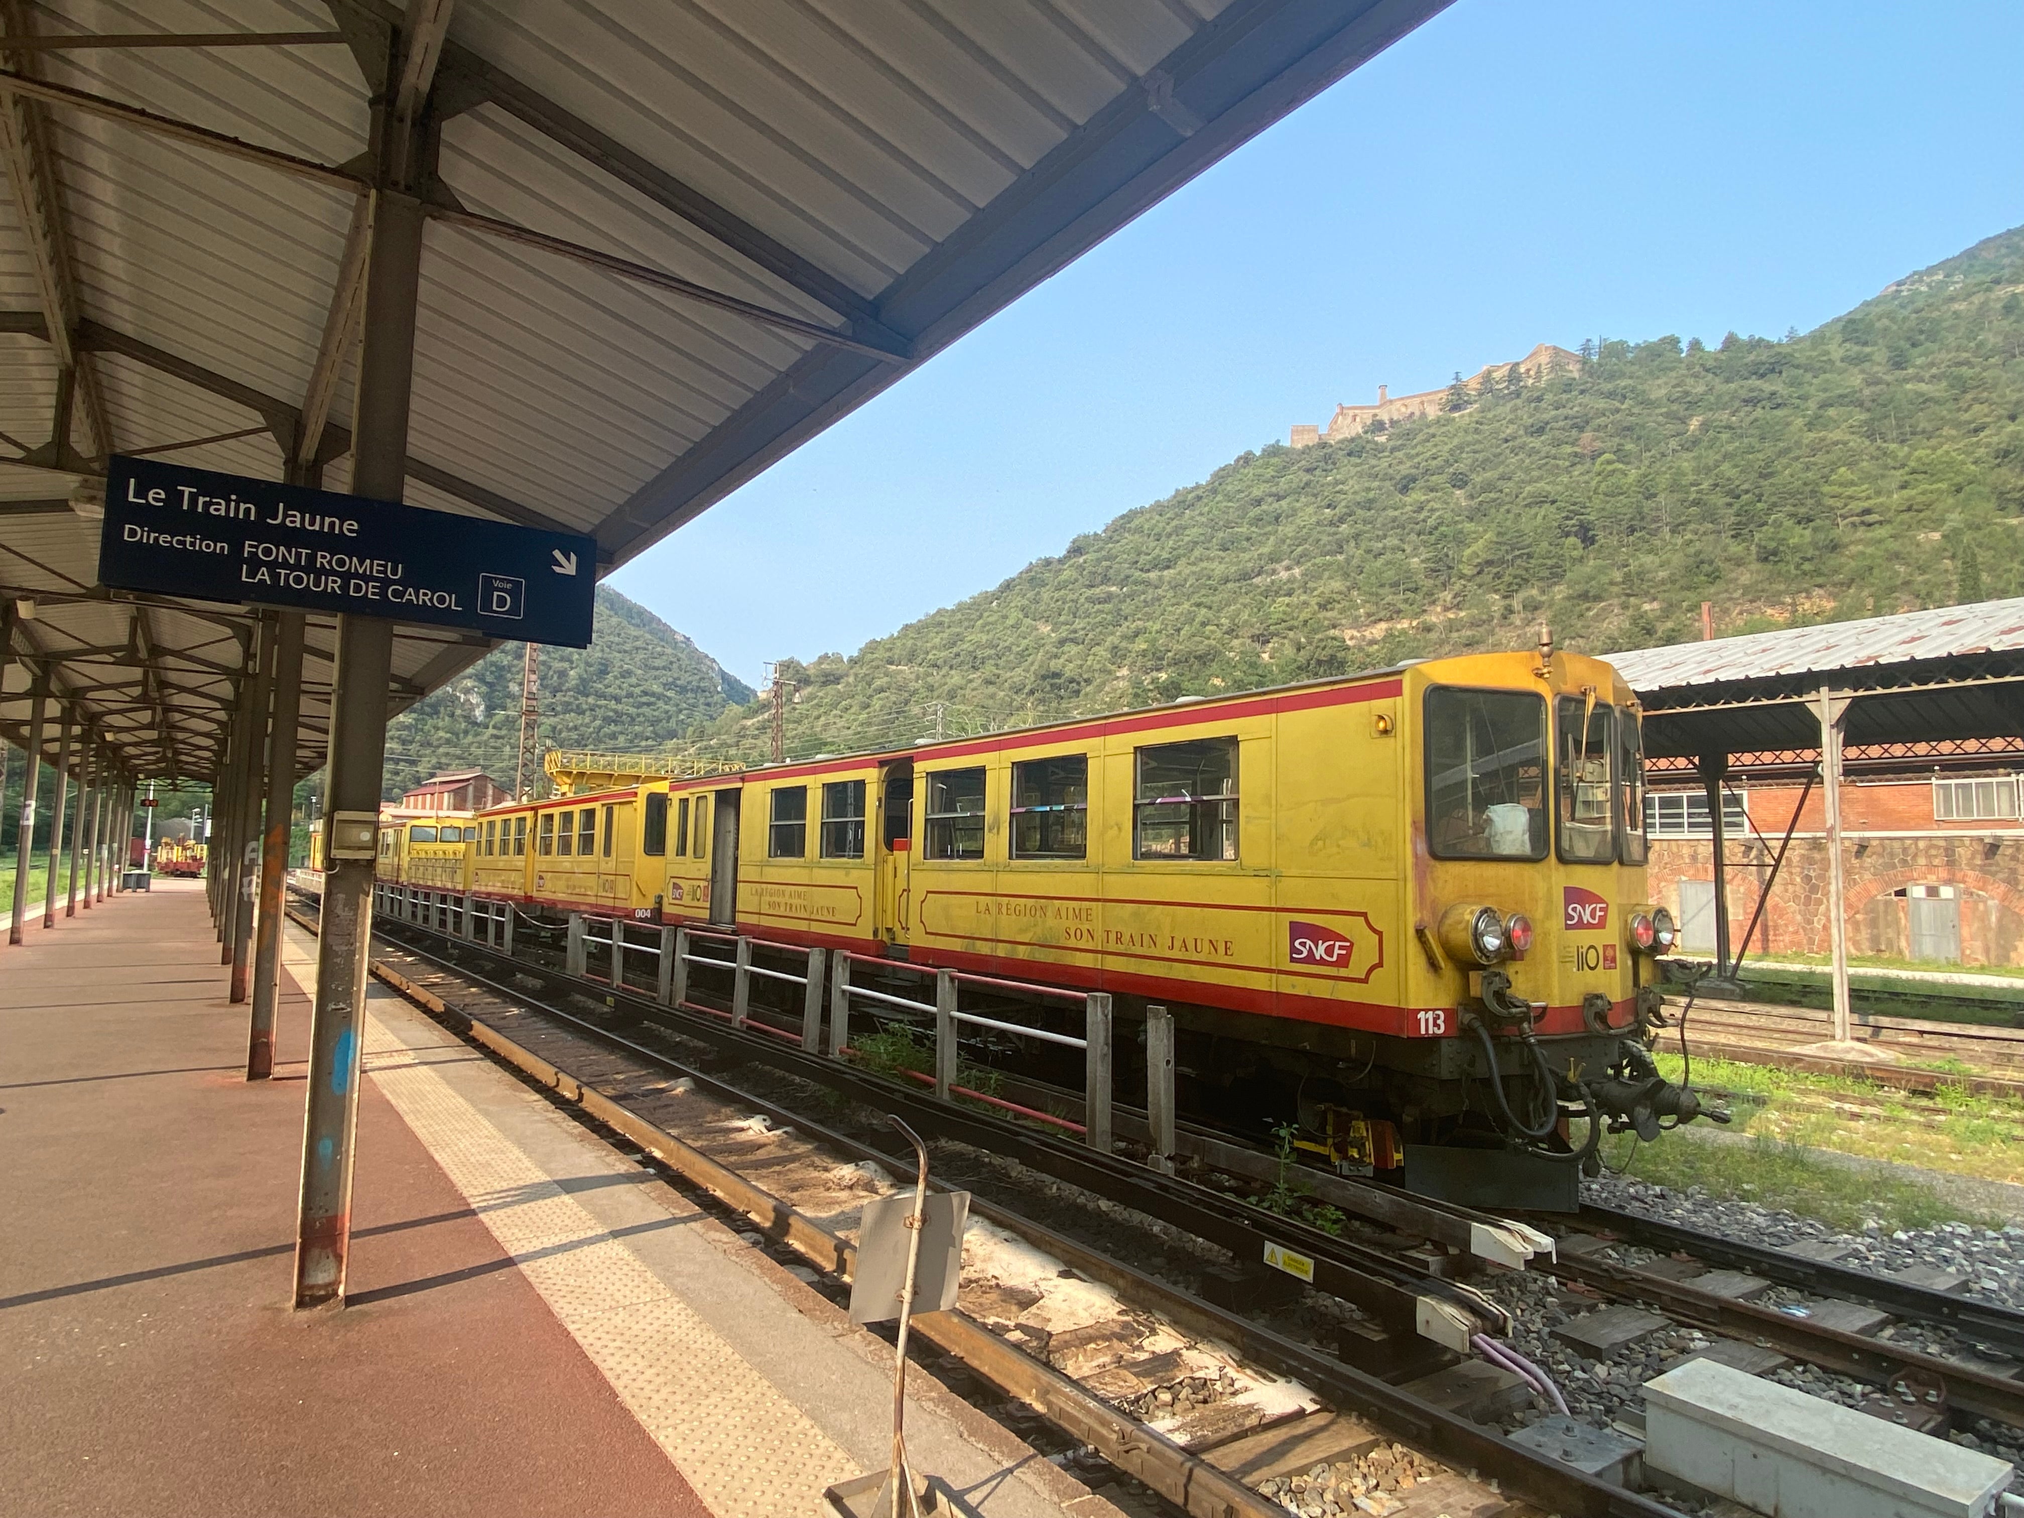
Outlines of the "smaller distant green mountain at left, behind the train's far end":
<svg viewBox="0 0 2024 1518">
<path fill-rule="evenodd" d="M 589 648 L 540 650 L 542 747 L 658 753 L 753 698 L 751 686 L 613 589 L 597 589 L 591 636 Z M 387 725 L 389 799 L 463 765 L 512 785 L 524 654 L 526 644 L 492 650 Z"/>
</svg>

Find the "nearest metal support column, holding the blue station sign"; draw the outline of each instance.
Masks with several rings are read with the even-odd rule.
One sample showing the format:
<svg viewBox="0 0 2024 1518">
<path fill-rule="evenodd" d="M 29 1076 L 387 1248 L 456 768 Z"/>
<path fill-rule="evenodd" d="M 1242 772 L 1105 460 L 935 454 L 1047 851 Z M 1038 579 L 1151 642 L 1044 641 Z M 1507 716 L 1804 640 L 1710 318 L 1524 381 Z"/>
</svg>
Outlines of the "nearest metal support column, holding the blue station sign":
<svg viewBox="0 0 2024 1518">
<path fill-rule="evenodd" d="M 421 200 L 372 192 L 364 350 L 352 425 L 352 490 L 401 500 L 407 488 L 407 411 L 415 376 L 415 298 L 421 279 Z M 342 1301 L 352 1237 L 352 1150 L 358 1133 L 358 1046 L 372 949 L 372 866 L 387 751 L 393 623 L 338 617 L 330 696 L 330 787 L 324 838 L 316 1008 L 310 1016 L 310 1097 L 302 1135 L 296 1222 L 296 1305 Z"/>
</svg>

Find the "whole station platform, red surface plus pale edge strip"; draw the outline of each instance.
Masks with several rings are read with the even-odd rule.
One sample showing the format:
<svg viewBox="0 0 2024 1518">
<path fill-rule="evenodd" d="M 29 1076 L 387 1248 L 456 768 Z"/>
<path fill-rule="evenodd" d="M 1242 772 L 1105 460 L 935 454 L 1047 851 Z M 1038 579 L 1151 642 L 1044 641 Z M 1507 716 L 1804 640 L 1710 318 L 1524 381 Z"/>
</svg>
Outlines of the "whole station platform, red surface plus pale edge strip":
<svg viewBox="0 0 2024 1518">
<path fill-rule="evenodd" d="M 314 943 L 247 1085 L 196 882 L 0 951 L 0 1510 L 806 1514 L 880 1469 L 891 1348 L 383 988 L 350 1295 L 287 1305 Z M 925 1374 L 986 1514 L 1111 1504 Z"/>
</svg>

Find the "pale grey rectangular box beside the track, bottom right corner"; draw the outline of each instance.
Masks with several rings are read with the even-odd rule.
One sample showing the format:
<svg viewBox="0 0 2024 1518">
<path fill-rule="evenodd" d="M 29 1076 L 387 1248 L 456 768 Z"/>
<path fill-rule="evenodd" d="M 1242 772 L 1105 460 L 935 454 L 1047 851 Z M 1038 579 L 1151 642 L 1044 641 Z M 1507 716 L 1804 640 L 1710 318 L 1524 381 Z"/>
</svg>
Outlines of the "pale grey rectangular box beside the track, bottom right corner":
<svg viewBox="0 0 2024 1518">
<path fill-rule="evenodd" d="M 1646 1382 L 1646 1465 L 1779 1518 L 1988 1518 L 2010 1465 L 1692 1360 Z"/>
</svg>

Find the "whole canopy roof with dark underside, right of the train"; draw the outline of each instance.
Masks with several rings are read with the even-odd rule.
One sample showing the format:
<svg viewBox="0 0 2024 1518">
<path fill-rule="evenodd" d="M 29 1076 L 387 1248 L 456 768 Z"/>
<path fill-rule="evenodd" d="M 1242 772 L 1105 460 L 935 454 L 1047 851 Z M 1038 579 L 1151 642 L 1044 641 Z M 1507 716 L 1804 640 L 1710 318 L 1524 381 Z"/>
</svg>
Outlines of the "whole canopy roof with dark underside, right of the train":
<svg viewBox="0 0 2024 1518">
<path fill-rule="evenodd" d="M 2024 737 L 2024 599 L 1611 654 L 1646 710 L 1646 755 L 1820 749 L 1820 692 L 1856 696 L 1846 743 L 1901 757 Z M 1905 753 L 1911 751 L 1911 753 Z"/>
</svg>

